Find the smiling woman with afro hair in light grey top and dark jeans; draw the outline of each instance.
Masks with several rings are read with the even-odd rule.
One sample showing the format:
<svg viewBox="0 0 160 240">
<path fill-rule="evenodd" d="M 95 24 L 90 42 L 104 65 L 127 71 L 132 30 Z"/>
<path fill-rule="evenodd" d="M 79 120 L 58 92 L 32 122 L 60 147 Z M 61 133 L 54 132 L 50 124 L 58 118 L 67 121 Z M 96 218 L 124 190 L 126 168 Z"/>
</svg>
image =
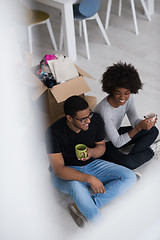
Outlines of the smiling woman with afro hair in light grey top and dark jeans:
<svg viewBox="0 0 160 240">
<path fill-rule="evenodd" d="M 154 152 L 151 144 L 158 136 L 155 127 L 157 118 L 139 119 L 136 113 L 133 94 L 142 89 L 137 70 L 131 64 L 118 62 L 107 68 L 102 76 L 102 90 L 107 96 L 96 106 L 105 123 L 106 152 L 103 158 L 130 169 L 135 169 L 149 161 Z M 127 115 L 131 126 L 121 126 Z M 131 145 L 128 154 L 121 147 Z"/>
</svg>

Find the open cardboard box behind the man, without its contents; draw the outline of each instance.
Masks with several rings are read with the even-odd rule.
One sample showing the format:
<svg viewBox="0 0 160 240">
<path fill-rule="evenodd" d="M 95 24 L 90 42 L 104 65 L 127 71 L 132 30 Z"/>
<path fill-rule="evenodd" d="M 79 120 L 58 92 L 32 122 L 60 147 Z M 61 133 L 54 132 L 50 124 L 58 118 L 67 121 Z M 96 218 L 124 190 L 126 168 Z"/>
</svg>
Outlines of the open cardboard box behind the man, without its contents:
<svg viewBox="0 0 160 240">
<path fill-rule="evenodd" d="M 92 110 L 96 106 L 96 97 L 84 95 L 86 92 L 90 91 L 90 88 L 83 76 L 92 79 L 94 78 L 78 66 L 76 66 L 76 68 L 79 77 L 55 85 L 52 88 L 47 88 L 32 71 L 29 71 L 29 81 L 27 84 L 32 88 L 31 97 L 34 102 L 38 103 L 41 111 L 48 114 L 47 125 L 51 125 L 64 116 L 64 101 L 72 95 L 81 95 L 84 97 Z"/>
</svg>

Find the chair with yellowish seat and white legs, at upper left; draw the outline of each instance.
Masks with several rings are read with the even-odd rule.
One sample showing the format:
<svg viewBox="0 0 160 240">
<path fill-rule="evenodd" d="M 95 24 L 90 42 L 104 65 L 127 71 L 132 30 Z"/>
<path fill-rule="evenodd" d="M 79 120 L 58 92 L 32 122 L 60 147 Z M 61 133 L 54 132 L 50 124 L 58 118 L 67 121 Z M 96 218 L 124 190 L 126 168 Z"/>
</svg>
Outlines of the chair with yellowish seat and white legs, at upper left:
<svg viewBox="0 0 160 240">
<path fill-rule="evenodd" d="M 57 44 L 51 27 L 49 14 L 39 10 L 30 9 L 23 1 L 19 0 L 19 8 L 22 10 L 22 19 L 20 21 L 21 25 L 28 28 L 28 38 L 29 38 L 29 50 L 32 53 L 32 27 L 40 24 L 47 24 L 47 28 L 51 37 L 51 41 L 55 50 L 57 50 Z M 24 15 L 24 16 L 23 16 Z"/>
</svg>

